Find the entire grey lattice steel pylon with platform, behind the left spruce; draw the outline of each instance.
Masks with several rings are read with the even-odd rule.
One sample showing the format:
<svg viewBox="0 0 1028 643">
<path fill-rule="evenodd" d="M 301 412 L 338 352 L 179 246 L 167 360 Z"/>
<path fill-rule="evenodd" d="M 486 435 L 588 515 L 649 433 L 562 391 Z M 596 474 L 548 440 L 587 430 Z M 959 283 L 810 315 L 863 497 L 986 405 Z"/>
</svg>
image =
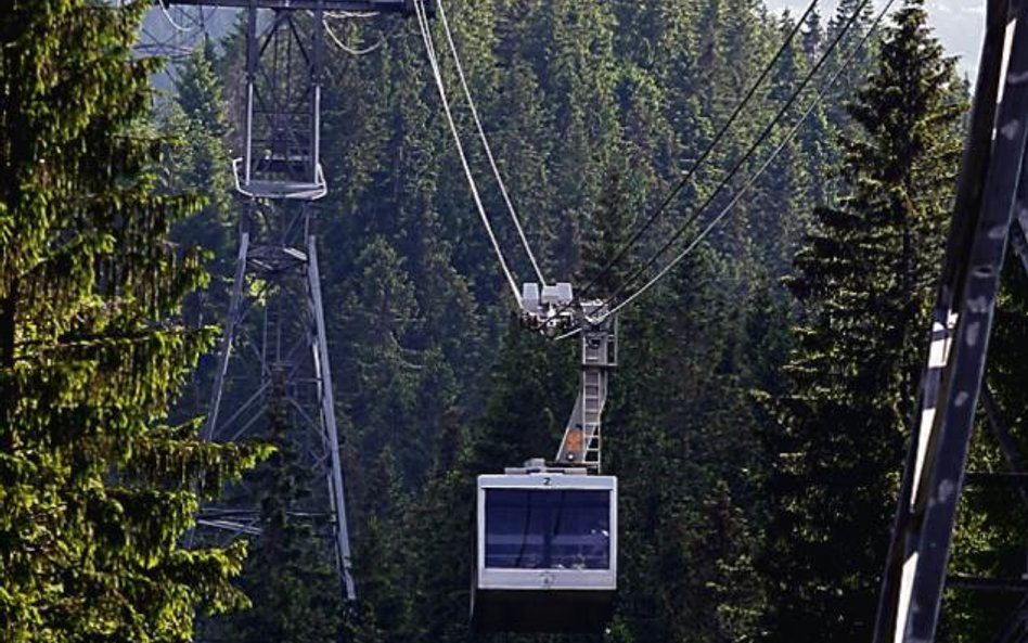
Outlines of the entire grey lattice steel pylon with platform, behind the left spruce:
<svg viewBox="0 0 1028 643">
<path fill-rule="evenodd" d="M 242 196 L 240 245 L 203 437 L 267 438 L 272 410 L 309 497 L 290 513 L 308 520 L 334 558 L 343 596 L 357 595 L 346 490 L 325 336 L 314 204 L 327 193 L 321 166 L 324 14 L 411 14 L 412 0 L 164 0 L 246 13 L 243 154 L 233 162 Z M 311 15 L 312 21 L 301 16 Z M 275 427 L 281 430 L 282 427 Z M 259 491 L 244 479 L 202 507 L 194 538 L 260 535 Z"/>
</svg>

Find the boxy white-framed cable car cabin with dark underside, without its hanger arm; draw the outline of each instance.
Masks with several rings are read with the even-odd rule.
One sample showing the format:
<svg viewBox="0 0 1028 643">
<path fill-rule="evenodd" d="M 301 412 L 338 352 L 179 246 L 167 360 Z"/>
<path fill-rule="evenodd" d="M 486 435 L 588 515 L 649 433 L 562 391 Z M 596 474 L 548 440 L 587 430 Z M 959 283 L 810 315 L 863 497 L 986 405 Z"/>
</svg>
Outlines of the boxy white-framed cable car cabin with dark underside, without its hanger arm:
<svg viewBox="0 0 1028 643">
<path fill-rule="evenodd" d="M 617 478 L 478 476 L 472 626 L 602 632 L 617 589 Z"/>
</svg>

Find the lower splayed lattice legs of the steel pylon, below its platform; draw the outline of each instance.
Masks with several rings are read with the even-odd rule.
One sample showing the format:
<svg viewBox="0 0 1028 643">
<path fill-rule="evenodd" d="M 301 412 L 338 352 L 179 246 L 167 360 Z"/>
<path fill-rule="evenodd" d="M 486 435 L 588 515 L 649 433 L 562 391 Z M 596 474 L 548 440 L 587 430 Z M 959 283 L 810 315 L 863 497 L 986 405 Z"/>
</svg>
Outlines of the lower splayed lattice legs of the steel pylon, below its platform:
<svg viewBox="0 0 1028 643">
<path fill-rule="evenodd" d="M 334 558 L 342 591 L 356 596 L 346 522 L 340 441 L 335 419 L 332 368 L 321 297 L 316 237 L 308 203 L 275 207 L 250 204 L 247 228 L 264 229 L 255 241 L 241 235 L 203 437 L 213 441 L 266 439 L 277 428 L 271 410 L 285 420 L 284 437 L 305 472 L 310 491 L 291 506 L 307 520 Z M 303 221 L 291 224 L 293 209 Z M 282 430 L 283 427 L 278 427 Z M 205 506 L 198 527 L 228 538 L 259 536 L 260 498 L 247 478 Z"/>
</svg>

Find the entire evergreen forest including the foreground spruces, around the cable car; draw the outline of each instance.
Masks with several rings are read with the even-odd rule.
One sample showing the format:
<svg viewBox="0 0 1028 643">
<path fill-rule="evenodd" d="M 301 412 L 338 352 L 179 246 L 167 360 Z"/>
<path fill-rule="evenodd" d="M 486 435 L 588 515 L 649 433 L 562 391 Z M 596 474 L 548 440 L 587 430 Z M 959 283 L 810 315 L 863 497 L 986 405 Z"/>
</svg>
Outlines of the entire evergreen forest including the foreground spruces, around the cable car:
<svg viewBox="0 0 1028 643">
<path fill-rule="evenodd" d="M 241 150 L 245 25 L 176 61 L 174 92 L 151 114 L 157 64 L 130 51 L 142 8 L 69 1 L 47 3 L 38 20 L 65 21 L 95 56 L 62 59 L 63 33 L 25 51 L 61 69 L 103 63 L 74 88 L 82 102 L 25 81 L 16 87 L 34 104 L 59 101 L 67 114 L 40 107 L 22 124 L 0 101 L 4 125 L 24 126 L 25 140 L 59 132 L 70 150 L 55 175 L 62 192 L 34 182 L 36 157 L 0 145 L 10 170 L 0 179 L 4 640 L 185 641 L 200 606 L 197 640 L 226 643 L 870 641 L 969 98 L 923 0 L 881 23 L 861 0 L 802 16 L 761 0 L 441 1 L 551 281 L 594 281 L 596 297 L 634 292 L 634 274 L 655 273 L 657 248 L 682 227 L 673 250 L 697 240 L 781 146 L 712 233 L 620 314 L 604 417 L 604 473 L 618 476 L 620 493 L 607 632 L 490 639 L 468 629 L 475 476 L 553 456 L 579 347 L 521 323 L 414 21 L 329 18 L 352 48 L 326 50 L 330 191 L 313 224 L 359 594 L 344 605 L 316 539 L 287 511 L 310 492 L 294 475 L 288 413 L 269 410 L 273 449 L 198 440 L 245 207 L 230 160 Z M 31 77 L 15 50 L 0 50 L 0 79 Z M 459 87 L 441 62 L 445 82 Z M 472 112 L 460 100 L 452 108 L 499 239 L 517 248 L 488 159 L 471 143 Z M 103 163 L 90 169 L 87 154 Z M 100 203 L 81 205 L 66 185 Z M 63 218 L 25 196 L 51 188 Z M 105 214 L 79 245 L 83 213 L 97 208 Z M 53 261 L 47 235 L 82 256 Z M 534 280 L 527 256 L 512 267 Z M 1024 317 L 1019 279 L 1007 279 L 1000 314 Z M 1025 412 L 1023 339 L 995 339 L 991 383 L 1014 416 Z M 49 413 L 50 402 L 66 413 Z M 68 439 L 68 424 L 89 439 Z M 986 446 L 972 458 L 982 467 L 1000 459 Z M 252 467 L 264 535 L 248 555 L 240 543 L 187 551 L 198 503 Z M 959 568 L 994 571 L 1023 554 L 1023 519 L 994 497 L 971 493 L 963 511 L 973 517 L 958 535 Z M 60 519 L 20 530 L 36 514 Z M 115 514 L 128 527 L 115 527 Z M 993 527 L 977 528 L 985 517 Z M 53 545 L 48 529 L 70 544 Z M 114 597 L 82 607 L 98 592 Z M 980 640 L 1006 605 L 961 597 L 943 633 Z"/>
</svg>

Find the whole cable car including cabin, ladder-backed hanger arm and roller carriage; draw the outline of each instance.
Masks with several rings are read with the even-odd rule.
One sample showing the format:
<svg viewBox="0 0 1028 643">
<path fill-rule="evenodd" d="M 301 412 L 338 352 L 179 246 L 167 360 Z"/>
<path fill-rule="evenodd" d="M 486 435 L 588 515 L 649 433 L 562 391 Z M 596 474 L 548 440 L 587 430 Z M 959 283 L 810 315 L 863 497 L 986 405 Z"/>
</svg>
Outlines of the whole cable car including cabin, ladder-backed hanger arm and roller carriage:
<svg viewBox="0 0 1028 643">
<path fill-rule="evenodd" d="M 600 425 L 617 364 L 616 318 L 573 308 L 571 286 L 525 284 L 524 319 L 581 336 L 578 399 L 556 460 L 480 475 L 472 626 L 484 632 L 602 632 L 617 590 L 617 478 L 601 475 Z"/>
</svg>

